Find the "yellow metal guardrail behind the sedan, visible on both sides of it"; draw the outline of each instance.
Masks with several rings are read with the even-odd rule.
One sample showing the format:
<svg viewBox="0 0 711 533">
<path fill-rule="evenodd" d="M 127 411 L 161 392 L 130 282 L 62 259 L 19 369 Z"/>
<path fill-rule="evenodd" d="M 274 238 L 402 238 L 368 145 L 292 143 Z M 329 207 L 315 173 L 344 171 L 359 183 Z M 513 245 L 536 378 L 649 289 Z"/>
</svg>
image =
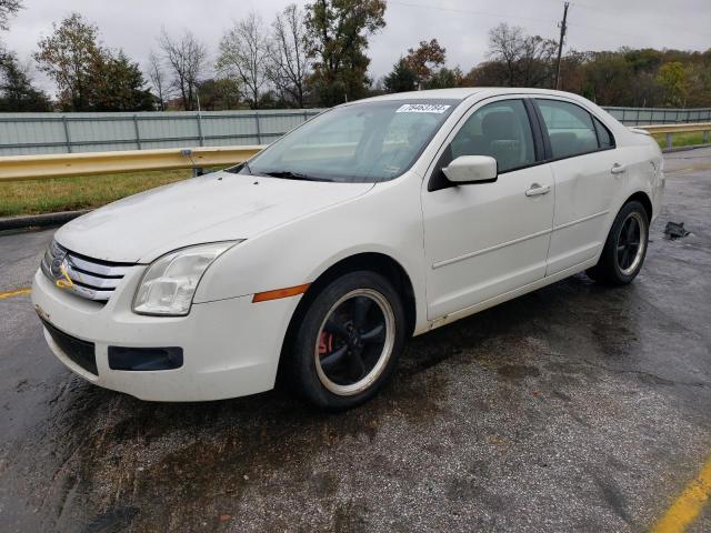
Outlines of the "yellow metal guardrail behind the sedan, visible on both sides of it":
<svg viewBox="0 0 711 533">
<path fill-rule="evenodd" d="M 650 133 L 664 133 L 671 148 L 671 135 L 703 132 L 708 142 L 711 122 L 700 124 L 664 124 L 639 127 Z M 202 169 L 228 167 L 251 158 L 263 145 L 213 147 L 192 149 L 124 150 L 116 152 L 56 153 L 44 155 L 0 157 L 0 182 L 109 174 L 146 170 Z"/>
</svg>

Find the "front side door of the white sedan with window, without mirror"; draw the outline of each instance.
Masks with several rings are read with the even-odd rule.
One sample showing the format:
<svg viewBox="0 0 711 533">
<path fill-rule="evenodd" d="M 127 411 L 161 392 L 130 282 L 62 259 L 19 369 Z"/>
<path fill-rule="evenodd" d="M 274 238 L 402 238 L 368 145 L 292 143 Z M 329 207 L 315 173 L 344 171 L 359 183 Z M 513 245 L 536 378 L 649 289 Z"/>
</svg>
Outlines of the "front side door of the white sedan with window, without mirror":
<svg viewBox="0 0 711 533">
<path fill-rule="evenodd" d="M 460 124 L 422 191 L 429 320 L 545 275 L 554 183 L 523 100 L 480 104 Z M 498 179 L 448 182 L 441 169 L 460 155 L 494 158 Z"/>
</svg>

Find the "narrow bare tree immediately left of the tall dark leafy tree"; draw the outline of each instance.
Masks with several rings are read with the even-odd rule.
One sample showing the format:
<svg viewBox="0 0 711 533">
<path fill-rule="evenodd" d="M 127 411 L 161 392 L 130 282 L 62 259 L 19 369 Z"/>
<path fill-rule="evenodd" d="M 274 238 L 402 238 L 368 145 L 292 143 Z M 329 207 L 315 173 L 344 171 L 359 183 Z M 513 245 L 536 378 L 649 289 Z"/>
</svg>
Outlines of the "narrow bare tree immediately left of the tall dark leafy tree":
<svg viewBox="0 0 711 533">
<path fill-rule="evenodd" d="M 303 108 L 309 58 L 306 50 L 306 18 L 296 3 L 290 3 L 272 23 L 267 74 L 277 90 Z"/>
</svg>

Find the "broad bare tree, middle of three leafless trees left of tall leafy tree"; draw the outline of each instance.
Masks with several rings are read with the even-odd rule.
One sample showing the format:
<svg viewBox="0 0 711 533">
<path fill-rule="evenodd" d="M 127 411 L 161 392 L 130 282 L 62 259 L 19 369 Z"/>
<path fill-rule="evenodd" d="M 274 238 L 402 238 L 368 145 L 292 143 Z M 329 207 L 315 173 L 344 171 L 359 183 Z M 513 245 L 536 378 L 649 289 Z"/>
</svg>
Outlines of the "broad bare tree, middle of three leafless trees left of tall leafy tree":
<svg viewBox="0 0 711 533">
<path fill-rule="evenodd" d="M 268 82 L 268 60 L 269 42 L 263 23 L 252 11 L 222 37 L 217 70 L 237 78 L 248 93 L 250 107 L 257 109 L 261 90 Z"/>
</svg>

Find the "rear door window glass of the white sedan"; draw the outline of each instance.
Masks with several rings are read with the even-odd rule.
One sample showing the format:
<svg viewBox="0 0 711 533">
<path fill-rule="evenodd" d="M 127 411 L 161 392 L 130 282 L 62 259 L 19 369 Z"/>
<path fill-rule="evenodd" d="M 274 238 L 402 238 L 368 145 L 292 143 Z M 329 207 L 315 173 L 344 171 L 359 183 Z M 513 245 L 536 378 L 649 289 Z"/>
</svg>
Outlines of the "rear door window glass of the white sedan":
<svg viewBox="0 0 711 533">
<path fill-rule="evenodd" d="M 598 150 L 598 133 L 592 117 L 574 103 L 537 99 L 551 140 L 553 159 L 569 158 Z"/>
</svg>

